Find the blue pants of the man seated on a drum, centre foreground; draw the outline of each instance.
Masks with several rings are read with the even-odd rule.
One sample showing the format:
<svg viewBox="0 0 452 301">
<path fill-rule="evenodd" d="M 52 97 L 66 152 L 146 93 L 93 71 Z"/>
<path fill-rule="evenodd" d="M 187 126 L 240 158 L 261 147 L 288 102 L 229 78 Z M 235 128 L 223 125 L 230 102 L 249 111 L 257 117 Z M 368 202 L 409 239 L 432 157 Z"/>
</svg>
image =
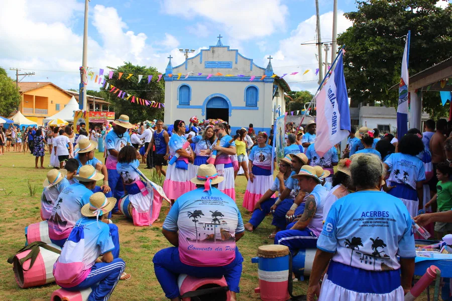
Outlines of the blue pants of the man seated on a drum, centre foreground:
<svg viewBox="0 0 452 301">
<path fill-rule="evenodd" d="M 179 249 L 170 247 L 158 251 L 152 259 L 154 271 L 162 286 L 165 296 L 169 299 L 180 295 L 177 277 L 179 274 L 205 278 L 224 276 L 231 291 L 239 292 L 240 276 L 242 275 L 243 257 L 236 247 L 236 258 L 224 266 L 191 266 L 182 263 L 179 259 Z"/>
</svg>

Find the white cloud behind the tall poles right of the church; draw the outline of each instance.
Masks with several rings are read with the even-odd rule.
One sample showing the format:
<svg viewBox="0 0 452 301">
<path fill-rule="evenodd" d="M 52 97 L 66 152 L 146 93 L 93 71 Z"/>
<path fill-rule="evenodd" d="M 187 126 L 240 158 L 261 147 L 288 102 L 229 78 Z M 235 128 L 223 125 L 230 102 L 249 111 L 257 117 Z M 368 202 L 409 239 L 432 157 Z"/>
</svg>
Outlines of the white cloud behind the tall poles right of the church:
<svg viewBox="0 0 452 301">
<path fill-rule="evenodd" d="M 297 28 L 290 33 L 290 37 L 279 42 L 279 49 L 272 54 L 272 66 L 274 73 L 279 76 L 284 73 L 299 72 L 297 75 L 286 76 L 284 79 L 289 83 L 292 90 L 309 90 L 314 93 L 318 87 L 318 76 L 315 69 L 318 68 L 316 60 L 317 46 L 300 45 L 303 42 L 315 42 L 316 34 L 315 15 L 298 24 Z M 352 22 L 344 17 L 344 12 L 337 12 L 337 33 L 344 32 L 352 26 Z M 320 15 L 320 30 L 322 41 L 331 41 L 332 12 Z M 267 61 L 268 55 L 264 57 Z M 323 62 L 325 52 L 322 53 Z M 328 62 L 331 62 L 331 49 L 328 52 Z M 309 69 L 310 71 L 303 75 Z"/>
</svg>

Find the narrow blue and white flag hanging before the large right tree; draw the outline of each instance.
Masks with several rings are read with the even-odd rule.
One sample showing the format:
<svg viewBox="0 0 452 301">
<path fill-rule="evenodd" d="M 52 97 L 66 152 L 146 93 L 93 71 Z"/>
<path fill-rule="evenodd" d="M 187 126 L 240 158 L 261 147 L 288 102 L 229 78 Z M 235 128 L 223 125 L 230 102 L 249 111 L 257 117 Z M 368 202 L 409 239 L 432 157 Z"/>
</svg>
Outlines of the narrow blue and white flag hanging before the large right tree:
<svg viewBox="0 0 452 301">
<path fill-rule="evenodd" d="M 408 57 L 410 53 L 410 31 L 403 51 L 402 73 L 399 85 L 399 105 L 397 106 L 397 138 L 400 139 L 408 131 Z"/>
</svg>

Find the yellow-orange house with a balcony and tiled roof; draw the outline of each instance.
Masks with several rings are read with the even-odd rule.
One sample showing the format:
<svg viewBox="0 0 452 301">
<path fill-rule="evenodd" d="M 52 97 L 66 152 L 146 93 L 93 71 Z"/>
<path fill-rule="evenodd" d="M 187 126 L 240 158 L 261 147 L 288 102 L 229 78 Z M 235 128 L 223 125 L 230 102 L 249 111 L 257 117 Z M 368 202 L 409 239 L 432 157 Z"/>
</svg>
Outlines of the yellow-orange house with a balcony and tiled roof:
<svg viewBox="0 0 452 301">
<path fill-rule="evenodd" d="M 72 94 L 51 82 L 20 82 L 21 103 L 19 110 L 38 125 L 43 119 L 62 110 Z"/>
</svg>

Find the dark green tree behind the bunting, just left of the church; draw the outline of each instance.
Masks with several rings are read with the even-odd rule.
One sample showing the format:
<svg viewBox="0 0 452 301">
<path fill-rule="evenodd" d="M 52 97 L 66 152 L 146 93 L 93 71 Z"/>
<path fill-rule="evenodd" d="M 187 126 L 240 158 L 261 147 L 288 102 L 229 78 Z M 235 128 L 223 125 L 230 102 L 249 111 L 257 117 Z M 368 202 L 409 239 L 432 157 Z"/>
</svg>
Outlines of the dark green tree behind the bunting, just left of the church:
<svg viewBox="0 0 452 301">
<path fill-rule="evenodd" d="M 165 82 L 160 80 L 157 82 L 155 80 L 158 77 L 159 72 L 157 68 L 154 67 L 146 67 L 146 66 L 136 66 L 132 65 L 130 62 L 125 62 L 124 65 L 119 66 L 117 68 L 107 67 L 110 70 L 115 71 L 115 75 L 113 78 L 108 79 L 108 74 L 105 75 L 105 79 L 110 85 L 114 85 L 118 89 L 136 97 L 147 99 L 149 101 L 154 100 L 155 102 L 164 102 L 165 100 Z M 118 79 L 118 72 L 123 72 L 124 75 L 121 79 Z M 134 74 L 129 79 L 128 74 Z M 138 74 L 143 75 L 143 79 L 140 83 L 138 83 Z M 148 84 L 148 75 L 152 75 L 154 78 Z M 126 100 L 125 98 L 118 98 L 116 94 L 109 93 L 108 91 L 100 90 L 101 94 L 104 96 L 100 96 L 105 98 L 106 101 L 112 103 L 115 107 L 115 115 L 119 117 L 121 114 L 127 114 L 130 117 L 131 122 L 139 122 L 143 120 L 152 120 L 152 119 L 163 119 L 163 108 L 151 108 L 150 106 L 143 106 L 141 104 L 131 103 L 132 98 Z M 90 94 L 92 95 L 92 94 Z M 97 95 L 94 95 L 97 96 Z M 109 99 L 108 99 L 109 97 Z"/>
</svg>

